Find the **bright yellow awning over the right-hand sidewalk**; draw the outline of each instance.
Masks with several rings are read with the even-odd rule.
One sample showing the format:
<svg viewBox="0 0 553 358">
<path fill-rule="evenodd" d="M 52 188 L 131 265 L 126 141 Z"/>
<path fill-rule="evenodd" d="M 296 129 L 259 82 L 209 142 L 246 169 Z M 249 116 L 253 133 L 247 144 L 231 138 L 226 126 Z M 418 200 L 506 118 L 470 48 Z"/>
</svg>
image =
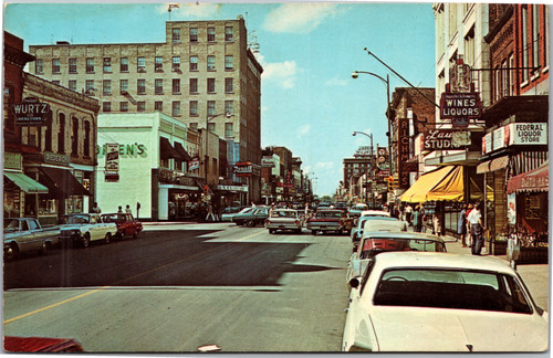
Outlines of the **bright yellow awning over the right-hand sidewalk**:
<svg viewBox="0 0 553 358">
<path fill-rule="evenodd" d="M 405 202 L 461 201 L 462 171 L 462 166 L 450 166 L 424 173 L 399 199 Z"/>
</svg>

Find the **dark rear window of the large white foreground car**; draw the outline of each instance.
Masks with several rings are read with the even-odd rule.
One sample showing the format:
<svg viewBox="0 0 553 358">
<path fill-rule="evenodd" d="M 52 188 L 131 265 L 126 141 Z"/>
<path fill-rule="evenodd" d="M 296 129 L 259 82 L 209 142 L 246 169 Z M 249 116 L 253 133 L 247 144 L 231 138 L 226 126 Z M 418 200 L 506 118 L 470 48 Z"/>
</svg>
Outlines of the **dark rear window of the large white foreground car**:
<svg viewBox="0 0 553 358">
<path fill-rule="evenodd" d="M 380 276 L 373 304 L 532 313 L 513 276 L 460 268 L 387 270 Z"/>
</svg>

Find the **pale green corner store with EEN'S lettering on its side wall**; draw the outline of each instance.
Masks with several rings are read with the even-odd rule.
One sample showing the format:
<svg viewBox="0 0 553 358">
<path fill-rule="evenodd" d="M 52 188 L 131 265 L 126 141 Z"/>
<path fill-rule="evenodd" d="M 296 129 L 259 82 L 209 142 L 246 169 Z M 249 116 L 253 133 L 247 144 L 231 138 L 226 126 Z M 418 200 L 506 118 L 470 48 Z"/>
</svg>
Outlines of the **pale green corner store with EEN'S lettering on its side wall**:
<svg viewBox="0 0 553 358">
<path fill-rule="evenodd" d="M 200 198 L 187 175 L 187 127 L 160 113 L 98 116 L 96 192 L 102 212 L 131 207 L 140 220 L 179 220 Z"/>
</svg>

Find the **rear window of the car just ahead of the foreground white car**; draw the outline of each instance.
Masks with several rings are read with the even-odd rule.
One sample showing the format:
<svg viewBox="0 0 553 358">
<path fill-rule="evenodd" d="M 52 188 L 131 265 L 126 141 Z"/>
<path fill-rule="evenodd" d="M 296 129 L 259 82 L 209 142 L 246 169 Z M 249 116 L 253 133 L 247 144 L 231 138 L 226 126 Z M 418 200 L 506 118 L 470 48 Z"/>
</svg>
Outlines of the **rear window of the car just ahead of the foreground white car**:
<svg viewBox="0 0 553 358">
<path fill-rule="evenodd" d="M 371 238 L 363 241 L 361 259 L 371 259 L 385 251 L 446 252 L 446 246 L 436 240 Z"/>
</svg>

